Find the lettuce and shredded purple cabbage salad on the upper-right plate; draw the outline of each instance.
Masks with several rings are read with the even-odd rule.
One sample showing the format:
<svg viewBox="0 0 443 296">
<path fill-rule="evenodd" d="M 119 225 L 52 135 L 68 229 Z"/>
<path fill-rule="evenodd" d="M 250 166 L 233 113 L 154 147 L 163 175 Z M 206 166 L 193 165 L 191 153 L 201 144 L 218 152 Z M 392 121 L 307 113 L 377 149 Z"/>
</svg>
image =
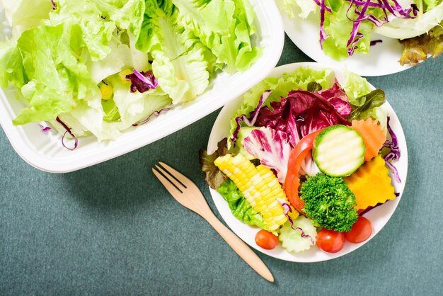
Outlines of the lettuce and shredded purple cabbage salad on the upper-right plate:
<svg viewBox="0 0 443 296">
<path fill-rule="evenodd" d="M 384 37 L 403 45 L 397 57 L 401 66 L 414 66 L 443 52 L 442 0 L 277 0 L 277 4 L 291 20 L 314 20 L 321 50 L 337 61 L 368 55 L 372 47 L 386 42 Z"/>
</svg>

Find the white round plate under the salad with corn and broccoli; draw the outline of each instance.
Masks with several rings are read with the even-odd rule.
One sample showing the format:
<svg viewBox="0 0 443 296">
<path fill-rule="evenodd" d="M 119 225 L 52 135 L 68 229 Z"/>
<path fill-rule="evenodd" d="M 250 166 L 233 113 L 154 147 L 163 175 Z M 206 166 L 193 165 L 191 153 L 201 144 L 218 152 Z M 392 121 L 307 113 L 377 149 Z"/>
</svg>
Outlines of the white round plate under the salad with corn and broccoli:
<svg viewBox="0 0 443 296">
<path fill-rule="evenodd" d="M 313 69 L 323 69 L 326 68 L 327 66 L 313 62 L 286 64 L 284 66 L 275 68 L 271 72 L 269 77 L 280 77 L 285 72 L 294 72 L 294 70 L 297 69 L 298 67 L 311 67 Z M 329 68 L 333 69 L 333 72 L 339 82 L 343 81 L 342 70 L 331 67 Z M 374 89 L 373 86 L 371 87 L 372 89 Z M 229 135 L 229 127 L 230 127 L 229 120 L 232 118 L 238 107 L 241 105 L 242 101 L 243 101 L 243 96 L 239 96 L 234 101 L 231 101 L 226 106 L 224 106 L 224 108 L 219 113 L 217 120 L 215 121 L 214 126 L 212 127 L 211 135 L 209 136 L 209 142 L 207 146 L 207 152 L 209 154 L 212 154 L 217 149 L 217 143 L 220 140 Z M 398 202 L 400 201 L 401 195 L 403 193 L 403 189 L 405 187 L 406 174 L 408 172 L 408 151 L 406 148 L 405 135 L 403 133 L 401 124 L 398 121 L 396 113 L 394 112 L 394 110 L 392 109 L 391 105 L 389 105 L 388 102 L 384 103 L 382 108 L 384 108 L 384 110 L 386 110 L 388 112 L 388 115 L 391 117 L 390 125 L 392 127 L 392 130 L 396 133 L 396 136 L 398 137 L 398 146 L 401 149 L 401 157 L 395 163 L 395 166 L 398 169 L 398 173 L 401 178 L 401 183 L 393 181 L 393 186 L 395 187 L 396 192 L 400 193 L 400 195 L 396 199 L 390 200 L 389 202 L 384 203 L 379 207 L 375 207 L 373 210 L 370 210 L 369 212 L 364 214 L 364 217 L 367 217 L 372 222 L 372 228 L 373 228 L 372 235 L 369 239 L 362 242 L 361 244 L 351 244 L 349 242 L 346 242 L 343 249 L 335 254 L 328 254 L 323 251 L 320 251 L 316 246 L 312 246 L 311 249 L 309 249 L 308 251 L 303 251 L 298 254 L 289 253 L 285 251 L 280 245 L 277 246 L 275 249 L 265 250 L 260 248 L 260 246 L 257 246 L 257 244 L 255 244 L 254 238 L 259 228 L 251 227 L 248 224 L 245 224 L 237 220 L 236 217 L 234 217 L 231 214 L 231 210 L 229 210 L 228 203 L 226 203 L 226 200 L 222 198 L 222 195 L 219 195 L 219 193 L 216 190 L 209 188 L 215 206 L 217 207 L 217 210 L 219 210 L 220 215 L 222 215 L 226 224 L 228 224 L 228 226 L 238 235 L 238 237 L 243 239 L 243 241 L 246 241 L 246 243 L 252 246 L 254 249 L 269 256 L 272 256 L 274 258 L 279 258 L 286 261 L 294 261 L 294 262 L 326 261 L 348 254 L 352 251 L 355 251 L 363 244 L 366 244 L 370 239 L 372 239 L 372 237 L 374 237 L 377 233 L 380 232 L 380 230 L 384 227 L 386 222 L 388 222 L 394 210 L 396 210 Z"/>
</svg>

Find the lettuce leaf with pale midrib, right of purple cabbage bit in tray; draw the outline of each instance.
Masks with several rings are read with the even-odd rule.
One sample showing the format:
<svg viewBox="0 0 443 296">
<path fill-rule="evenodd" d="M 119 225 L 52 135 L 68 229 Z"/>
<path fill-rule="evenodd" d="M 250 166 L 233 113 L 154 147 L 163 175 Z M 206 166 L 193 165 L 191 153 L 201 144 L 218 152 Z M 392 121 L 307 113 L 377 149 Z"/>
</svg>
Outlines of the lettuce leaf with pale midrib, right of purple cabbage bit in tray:
<svg viewBox="0 0 443 296">
<path fill-rule="evenodd" d="M 149 50 L 152 70 L 173 103 L 191 101 L 209 84 L 207 47 L 178 23 L 178 11 L 146 8 L 139 50 Z M 146 37 L 147 36 L 147 37 Z M 141 42 L 144 45 L 141 45 Z"/>
</svg>

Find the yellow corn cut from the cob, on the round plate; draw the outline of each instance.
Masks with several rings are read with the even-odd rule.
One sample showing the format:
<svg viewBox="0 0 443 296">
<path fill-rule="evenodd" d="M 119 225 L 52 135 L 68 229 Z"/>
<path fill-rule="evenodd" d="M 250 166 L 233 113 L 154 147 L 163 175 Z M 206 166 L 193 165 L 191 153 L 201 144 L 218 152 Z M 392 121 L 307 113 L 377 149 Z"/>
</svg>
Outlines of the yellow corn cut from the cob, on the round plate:
<svg viewBox="0 0 443 296">
<path fill-rule="evenodd" d="M 286 196 L 270 169 L 262 165 L 255 167 L 242 154 L 219 156 L 214 164 L 236 183 L 253 209 L 263 215 L 270 231 L 287 221 L 284 209 L 277 200 Z"/>
</svg>

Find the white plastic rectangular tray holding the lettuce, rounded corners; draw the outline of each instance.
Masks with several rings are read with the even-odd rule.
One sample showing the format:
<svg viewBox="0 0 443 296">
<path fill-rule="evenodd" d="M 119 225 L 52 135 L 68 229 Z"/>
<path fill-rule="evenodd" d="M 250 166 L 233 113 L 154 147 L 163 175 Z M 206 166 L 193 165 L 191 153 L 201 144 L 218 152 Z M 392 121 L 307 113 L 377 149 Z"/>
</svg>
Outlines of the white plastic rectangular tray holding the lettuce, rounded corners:
<svg viewBox="0 0 443 296">
<path fill-rule="evenodd" d="M 16 152 L 32 166 L 42 171 L 64 173 L 143 147 L 224 106 L 264 79 L 274 69 L 283 50 L 283 23 L 274 1 L 250 1 L 257 15 L 254 25 L 258 38 L 255 39 L 255 45 L 264 47 L 265 50 L 263 56 L 248 71 L 231 76 L 218 74 L 207 91 L 195 101 L 177 106 L 146 125 L 131 128 L 117 140 L 98 142 L 92 136 L 79 138 L 79 147 L 74 151 L 62 146 L 62 137 L 52 131 L 54 129 L 42 132 L 37 123 L 13 126 L 12 120 L 23 108 L 23 103 L 16 100 L 15 91 L 0 89 L 0 124 L 8 140 Z M 0 40 L 3 39 L 1 34 L 3 33 L 0 32 Z"/>
</svg>

